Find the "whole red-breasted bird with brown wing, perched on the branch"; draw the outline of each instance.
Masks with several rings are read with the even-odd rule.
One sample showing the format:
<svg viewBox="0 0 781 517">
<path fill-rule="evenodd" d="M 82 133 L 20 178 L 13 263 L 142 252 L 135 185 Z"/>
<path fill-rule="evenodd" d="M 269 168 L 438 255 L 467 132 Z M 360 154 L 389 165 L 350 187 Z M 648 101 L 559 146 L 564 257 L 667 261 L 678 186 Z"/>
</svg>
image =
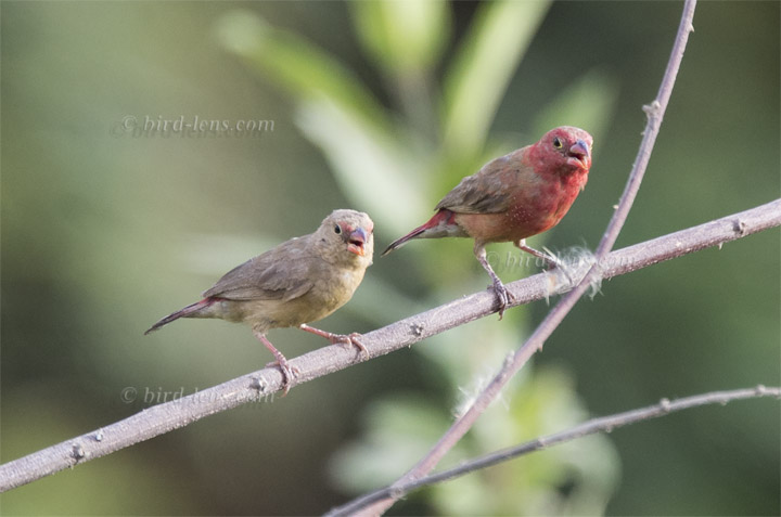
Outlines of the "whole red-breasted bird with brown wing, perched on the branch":
<svg viewBox="0 0 781 517">
<path fill-rule="evenodd" d="M 390 243 L 383 255 L 412 238 L 474 238 L 475 257 L 494 282 L 501 319 L 510 298 L 486 259 L 486 244 L 512 242 L 560 266 L 554 257 L 526 246 L 526 237 L 555 227 L 586 186 L 592 143 L 582 129 L 563 126 L 535 144 L 489 161 L 443 197 L 434 217 Z"/>
</svg>

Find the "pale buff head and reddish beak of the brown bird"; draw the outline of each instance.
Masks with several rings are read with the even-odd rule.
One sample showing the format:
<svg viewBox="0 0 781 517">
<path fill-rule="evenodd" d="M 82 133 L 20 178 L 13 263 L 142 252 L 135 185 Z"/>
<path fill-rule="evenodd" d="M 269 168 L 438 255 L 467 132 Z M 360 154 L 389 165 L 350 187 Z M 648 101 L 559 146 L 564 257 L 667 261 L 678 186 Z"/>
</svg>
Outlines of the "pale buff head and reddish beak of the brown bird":
<svg viewBox="0 0 781 517">
<path fill-rule="evenodd" d="M 316 232 L 317 241 L 333 261 L 368 268 L 374 255 L 374 222 L 356 210 L 334 210 Z"/>
</svg>

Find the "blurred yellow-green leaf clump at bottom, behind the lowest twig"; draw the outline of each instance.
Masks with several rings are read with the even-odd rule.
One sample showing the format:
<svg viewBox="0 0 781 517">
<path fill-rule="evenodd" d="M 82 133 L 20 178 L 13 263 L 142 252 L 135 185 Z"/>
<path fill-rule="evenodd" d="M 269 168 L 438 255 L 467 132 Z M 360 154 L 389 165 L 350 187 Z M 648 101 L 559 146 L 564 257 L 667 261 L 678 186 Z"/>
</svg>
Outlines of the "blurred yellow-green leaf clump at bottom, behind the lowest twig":
<svg viewBox="0 0 781 517">
<path fill-rule="evenodd" d="M 525 369 L 473 427 L 470 456 L 563 430 L 588 418 L 572 375 Z M 600 515 L 617 480 L 617 456 L 604 436 L 551 448 L 430 490 L 445 515 Z M 594 464 L 592 468 L 590 464 Z M 560 490 L 568 487 L 567 490 Z M 481 494 L 469 497 L 466 494 Z M 490 494 L 490 495 L 489 495 Z"/>
</svg>

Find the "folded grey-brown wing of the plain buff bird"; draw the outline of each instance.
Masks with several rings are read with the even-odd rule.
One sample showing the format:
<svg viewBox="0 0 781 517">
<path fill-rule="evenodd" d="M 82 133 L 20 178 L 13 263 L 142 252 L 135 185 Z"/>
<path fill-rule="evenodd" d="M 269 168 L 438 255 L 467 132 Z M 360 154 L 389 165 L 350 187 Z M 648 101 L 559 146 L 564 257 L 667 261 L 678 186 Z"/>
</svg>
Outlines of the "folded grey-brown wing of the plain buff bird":
<svg viewBox="0 0 781 517">
<path fill-rule="evenodd" d="M 307 235 L 308 236 L 308 235 Z M 205 298 L 229 300 L 282 300 L 298 298 L 311 289 L 311 253 L 306 237 L 280 244 L 226 273 Z"/>
</svg>

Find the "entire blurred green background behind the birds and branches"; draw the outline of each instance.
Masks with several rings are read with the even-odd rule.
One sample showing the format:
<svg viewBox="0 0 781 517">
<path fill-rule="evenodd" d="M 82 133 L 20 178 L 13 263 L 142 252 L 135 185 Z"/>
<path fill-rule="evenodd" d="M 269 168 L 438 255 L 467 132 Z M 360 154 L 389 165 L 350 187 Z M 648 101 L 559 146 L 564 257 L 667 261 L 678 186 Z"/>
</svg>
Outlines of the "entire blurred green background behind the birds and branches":
<svg viewBox="0 0 781 517">
<path fill-rule="evenodd" d="M 461 177 L 558 125 L 593 134 L 594 165 L 530 244 L 593 249 L 681 8 L 2 2 L 2 462 L 259 370 L 270 356 L 241 325 L 142 333 L 334 208 L 368 211 L 381 250 Z M 700 3 L 617 247 L 779 196 L 779 11 Z M 181 127 L 196 117 L 219 127 Z M 223 130 L 239 121 L 248 129 Z M 443 466 L 663 397 L 777 385 L 779 249 L 771 230 L 605 283 Z M 505 282 L 537 272 L 508 267 L 511 246 L 489 250 Z M 377 257 L 318 326 L 369 332 L 487 283 L 470 241 L 415 242 Z M 409 468 L 549 309 L 36 481 L 2 512 L 320 514 Z M 289 358 L 324 346 L 296 329 L 270 339 Z M 780 417 L 772 400 L 693 410 L 417 492 L 392 514 L 778 515 Z"/>
</svg>

